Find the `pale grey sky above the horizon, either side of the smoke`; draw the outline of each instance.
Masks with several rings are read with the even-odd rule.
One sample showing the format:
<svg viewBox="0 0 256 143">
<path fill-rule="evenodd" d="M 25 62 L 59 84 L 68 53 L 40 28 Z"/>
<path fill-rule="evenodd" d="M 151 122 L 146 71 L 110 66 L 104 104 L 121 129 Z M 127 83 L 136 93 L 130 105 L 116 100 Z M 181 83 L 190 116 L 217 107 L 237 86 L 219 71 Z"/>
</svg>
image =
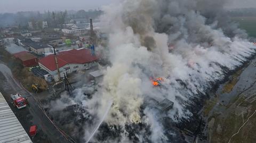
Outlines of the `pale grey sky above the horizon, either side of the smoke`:
<svg viewBox="0 0 256 143">
<path fill-rule="evenodd" d="M 0 13 L 17 11 L 54 11 L 98 9 L 113 0 L 0 0 Z M 214 1 L 214 0 L 213 0 Z M 227 7 L 256 7 L 256 0 L 230 0 Z"/>
</svg>

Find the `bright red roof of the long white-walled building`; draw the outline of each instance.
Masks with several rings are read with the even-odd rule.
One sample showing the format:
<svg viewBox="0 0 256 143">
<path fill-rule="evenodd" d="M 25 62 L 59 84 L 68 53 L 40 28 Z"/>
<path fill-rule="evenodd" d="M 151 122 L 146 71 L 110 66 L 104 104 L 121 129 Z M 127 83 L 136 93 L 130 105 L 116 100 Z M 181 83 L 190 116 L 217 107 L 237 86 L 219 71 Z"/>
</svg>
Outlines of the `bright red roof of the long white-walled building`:
<svg viewBox="0 0 256 143">
<path fill-rule="evenodd" d="M 89 49 L 72 49 L 70 51 L 63 51 L 57 54 L 59 68 L 66 64 L 85 64 L 98 60 L 97 56 L 91 55 Z M 39 59 L 39 63 L 43 64 L 51 71 L 57 70 L 54 55 L 49 55 Z"/>
</svg>

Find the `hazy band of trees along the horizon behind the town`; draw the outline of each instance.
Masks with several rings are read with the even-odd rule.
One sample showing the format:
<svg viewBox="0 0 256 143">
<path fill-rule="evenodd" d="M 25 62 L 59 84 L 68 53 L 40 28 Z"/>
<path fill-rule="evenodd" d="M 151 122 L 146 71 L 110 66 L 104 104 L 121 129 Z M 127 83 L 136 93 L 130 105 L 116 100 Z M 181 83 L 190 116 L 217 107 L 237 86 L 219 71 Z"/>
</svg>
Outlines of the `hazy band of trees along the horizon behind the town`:
<svg viewBox="0 0 256 143">
<path fill-rule="evenodd" d="M 19 26 L 21 28 L 27 27 L 28 22 L 31 21 L 33 24 L 40 28 L 42 26 L 39 23 L 47 21 L 49 27 L 57 27 L 64 23 L 69 22 L 75 18 L 98 18 L 103 12 L 100 10 L 79 10 L 79 11 L 47 11 L 44 13 L 40 12 L 17 12 L 17 13 L 0 13 L 0 27 Z"/>
</svg>

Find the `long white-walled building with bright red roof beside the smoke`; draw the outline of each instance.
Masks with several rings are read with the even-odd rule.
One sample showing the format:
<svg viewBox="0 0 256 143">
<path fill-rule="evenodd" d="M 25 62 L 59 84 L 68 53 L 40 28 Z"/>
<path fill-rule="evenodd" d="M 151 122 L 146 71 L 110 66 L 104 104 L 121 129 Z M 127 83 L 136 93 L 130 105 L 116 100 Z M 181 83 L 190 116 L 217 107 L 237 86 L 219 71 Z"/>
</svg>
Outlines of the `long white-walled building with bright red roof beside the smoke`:
<svg viewBox="0 0 256 143">
<path fill-rule="evenodd" d="M 42 69 L 49 72 L 50 77 L 54 81 L 59 81 L 61 78 L 64 78 L 65 74 L 97 66 L 98 60 L 99 58 L 93 55 L 89 49 L 81 48 L 46 56 L 39 59 L 38 64 Z M 47 81 L 49 81 L 49 75 L 45 76 Z"/>
</svg>

